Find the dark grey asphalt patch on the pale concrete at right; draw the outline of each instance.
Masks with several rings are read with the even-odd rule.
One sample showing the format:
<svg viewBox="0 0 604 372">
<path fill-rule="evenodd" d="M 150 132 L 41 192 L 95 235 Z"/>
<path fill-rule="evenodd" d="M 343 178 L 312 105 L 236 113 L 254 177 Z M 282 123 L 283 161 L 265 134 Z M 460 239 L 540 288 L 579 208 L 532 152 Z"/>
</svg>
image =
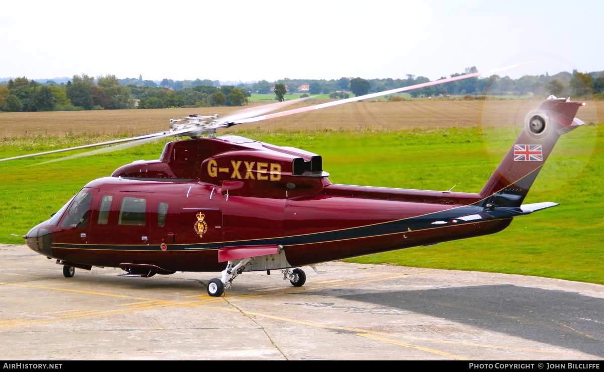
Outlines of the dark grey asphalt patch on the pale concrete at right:
<svg viewBox="0 0 604 372">
<path fill-rule="evenodd" d="M 377 305 L 344 312 L 422 313 L 604 358 L 604 299 L 511 284 L 330 296 Z M 325 292 L 304 292 L 326 295 Z M 295 303 L 330 307 L 333 303 Z"/>
</svg>

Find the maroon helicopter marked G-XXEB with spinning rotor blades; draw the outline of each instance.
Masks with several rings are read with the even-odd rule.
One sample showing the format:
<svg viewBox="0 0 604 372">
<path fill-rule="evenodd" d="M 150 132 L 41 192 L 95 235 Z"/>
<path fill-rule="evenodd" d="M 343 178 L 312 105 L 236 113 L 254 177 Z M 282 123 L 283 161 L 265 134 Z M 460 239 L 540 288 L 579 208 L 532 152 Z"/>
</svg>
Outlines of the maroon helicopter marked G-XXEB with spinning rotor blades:
<svg viewBox="0 0 604 372">
<path fill-rule="evenodd" d="M 479 193 L 332 184 L 320 155 L 216 136 L 217 130 L 501 70 L 273 114 L 266 113 L 304 98 L 223 118 L 190 115 L 170 120 L 167 132 L 0 161 L 114 145 L 83 154 L 94 155 L 189 136 L 167 143 L 158 160 L 134 161 L 89 182 L 22 236 L 25 243 L 63 265 L 68 278 L 76 268 L 92 266 L 143 278 L 220 272 L 207 283 L 208 295 L 220 297 L 243 272 L 280 271 L 293 286 L 303 286 L 303 266 L 321 274 L 316 264 L 326 261 L 498 233 L 514 217 L 558 205 L 522 202 L 557 139 L 584 124 L 575 115 L 585 103 L 550 96 L 528 112 L 518 139 Z"/>
</svg>

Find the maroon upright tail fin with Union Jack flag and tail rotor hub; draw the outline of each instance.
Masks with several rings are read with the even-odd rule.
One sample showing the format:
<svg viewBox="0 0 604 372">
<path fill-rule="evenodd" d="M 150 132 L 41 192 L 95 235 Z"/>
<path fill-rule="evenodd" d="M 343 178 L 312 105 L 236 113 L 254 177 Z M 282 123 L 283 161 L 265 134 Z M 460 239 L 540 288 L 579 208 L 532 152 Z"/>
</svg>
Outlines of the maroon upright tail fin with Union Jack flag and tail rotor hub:
<svg viewBox="0 0 604 372">
<path fill-rule="evenodd" d="M 524 130 L 480 191 L 482 207 L 518 208 L 558 138 L 585 123 L 574 117 L 585 103 L 551 95 L 528 113 Z"/>
</svg>

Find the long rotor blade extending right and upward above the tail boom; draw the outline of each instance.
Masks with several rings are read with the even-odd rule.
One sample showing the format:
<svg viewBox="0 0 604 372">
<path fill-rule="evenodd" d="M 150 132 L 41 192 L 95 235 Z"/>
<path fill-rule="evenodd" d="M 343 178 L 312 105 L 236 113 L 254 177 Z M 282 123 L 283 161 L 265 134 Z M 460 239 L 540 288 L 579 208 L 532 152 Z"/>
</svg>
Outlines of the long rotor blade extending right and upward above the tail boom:
<svg viewBox="0 0 604 372">
<path fill-rule="evenodd" d="M 533 63 L 535 63 L 535 62 L 520 63 L 519 65 L 512 65 L 512 66 L 507 66 L 507 67 L 503 67 L 503 68 L 496 68 L 496 69 L 491 69 L 489 71 L 479 71 L 479 72 L 474 72 L 472 74 L 449 77 L 448 79 L 434 80 L 433 82 L 405 86 L 403 88 L 390 89 L 388 91 L 383 91 L 383 92 L 365 94 L 365 95 L 361 95 L 359 97 L 345 98 L 344 100 L 331 101 L 331 102 L 327 102 L 327 103 L 315 104 L 314 106 L 300 107 L 299 109 L 275 112 L 275 114 L 262 115 L 259 117 L 237 120 L 237 121 L 234 121 L 229 126 L 233 126 L 236 124 L 243 124 L 243 123 L 254 123 L 255 121 L 268 120 L 268 119 L 272 119 L 272 118 L 284 117 L 287 115 L 300 114 L 300 112 L 313 111 L 313 110 L 323 109 L 325 107 L 337 106 L 338 104 L 350 103 L 350 102 L 355 102 L 355 101 L 360 101 L 360 100 L 367 100 L 368 98 L 380 97 L 381 95 L 399 93 L 399 92 L 404 92 L 404 91 L 411 91 L 413 89 L 424 88 L 425 86 L 432 86 L 432 85 L 439 85 L 439 84 L 444 84 L 444 83 L 449 83 L 449 82 L 455 82 L 457 80 L 468 79 L 470 77 L 475 77 L 478 75 L 495 74 L 495 72 L 505 71 L 507 69 L 518 68 L 518 67 L 526 66 L 526 65 L 532 65 Z"/>
</svg>

